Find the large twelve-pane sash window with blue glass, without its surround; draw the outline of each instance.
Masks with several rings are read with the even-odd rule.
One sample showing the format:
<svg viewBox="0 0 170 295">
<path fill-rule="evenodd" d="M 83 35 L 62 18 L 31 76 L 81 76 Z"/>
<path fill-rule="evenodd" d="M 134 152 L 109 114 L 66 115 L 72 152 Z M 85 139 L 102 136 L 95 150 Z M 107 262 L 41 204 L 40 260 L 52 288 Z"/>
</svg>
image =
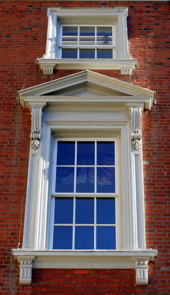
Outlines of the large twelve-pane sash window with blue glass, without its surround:
<svg viewBox="0 0 170 295">
<path fill-rule="evenodd" d="M 51 248 L 116 249 L 116 140 L 55 140 Z"/>
</svg>

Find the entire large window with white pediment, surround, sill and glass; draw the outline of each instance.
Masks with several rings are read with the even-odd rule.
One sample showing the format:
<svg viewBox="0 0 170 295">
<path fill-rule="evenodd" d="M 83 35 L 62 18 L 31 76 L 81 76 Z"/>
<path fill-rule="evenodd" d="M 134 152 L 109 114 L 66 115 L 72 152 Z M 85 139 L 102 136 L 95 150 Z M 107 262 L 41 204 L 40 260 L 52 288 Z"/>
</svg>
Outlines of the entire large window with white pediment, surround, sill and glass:
<svg viewBox="0 0 170 295">
<path fill-rule="evenodd" d="M 32 268 L 81 267 L 135 268 L 146 285 L 157 251 L 145 247 L 139 146 L 155 92 L 86 70 L 19 99 L 32 115 L 24 237 L 13 249 L 20 283 Z"/>
</svg>

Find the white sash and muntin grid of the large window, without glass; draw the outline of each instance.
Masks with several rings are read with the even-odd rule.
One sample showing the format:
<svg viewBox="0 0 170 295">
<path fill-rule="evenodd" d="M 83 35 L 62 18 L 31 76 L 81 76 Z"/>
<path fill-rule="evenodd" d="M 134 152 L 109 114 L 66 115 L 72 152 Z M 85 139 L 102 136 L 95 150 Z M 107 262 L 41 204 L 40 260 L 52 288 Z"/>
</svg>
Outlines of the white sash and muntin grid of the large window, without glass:
<svg viewBox="0 0 170 295">
<path fill-rule="evenodd" d="M 80 141 L 84 141 L 84 142 L 95 142 L 95 165 L 92 165 L 93 167 L 97 167 L 97 142 L 114 142 L 114 158 L 115 158 L 115 165 L 109 166 L 109 165 L 105 165 L 107 167 L 115 167 L 115 193 L 56 193 L 55 192 L 55 186 L 56 186 L 56 167 L 57 166 L 63 166 L 63 165 L 56 165 L 57 164 L 57 141 L 75 141 L 76 145 L 77 142 Z M 49 236 L 49 249 L 53 249 L 53 239 L 54 239 L 54 226 L 72 226 L 73 227 L 73 241 L 72 241 L 72 250 L 75 250 L 75 227 L 76 226 L 94 226 L 94 249 L 93 250 L 97 250 L 96 249 L 96 227 L 97 226 L 114 226 L 115 227 L 115 244 L 116 244 L 116 249 L 119 249 L 119 195 L 118 195 L 118 141 L 116 138 L 56 138 L 54 141 L 54 156 L 53 156 L 53 172 L 52 172 L 52 199 L 51 199 L 51 214 L 50 214 L 50 236 Z M 77 149 L 75 149 L 77 150 Z M 76 161 L 77 161 L 77 153 L 75 153 L 75 165 L 71 165 L 73 167 L 82 167 L 84 165 L 76 165 Z M 91 165 L 90 165 L 91 166 Z M 102 165 L 98 165 L 100 167 L 105 167 Z M 85 166 L 85 167 L 89 167 L 89 166 Z M 95 177 L 96 177 L 96 169 L 95 169 Z M 75 174 L 75 178 L 76 178 L 76 174 Z M 97 181 L 95 181 L 97 183 Z M 76 185 L 75 179 L 74 179 L 74 186 Z M 95 184 L 96 186 L 96 184 Z M 95 189 L 96 191 L 96 189 Z M 59 197 L 72 197 L 74 198 L 74 207 L 73 207 L 73 224 L 55 224 L 54 223 L 54 216 L 55 216 L 55 199 L 59 198 Z M 94 211 L 94 224 L 75 224 L 75 201 L 76 198 L 94 198 L 95 200 L 95 211 Z M 115 224 L 100 224 L 97 225 L 96 224 L 96 200 L 97 198 L 114 198 L 115 199 Z"/>
</svg>

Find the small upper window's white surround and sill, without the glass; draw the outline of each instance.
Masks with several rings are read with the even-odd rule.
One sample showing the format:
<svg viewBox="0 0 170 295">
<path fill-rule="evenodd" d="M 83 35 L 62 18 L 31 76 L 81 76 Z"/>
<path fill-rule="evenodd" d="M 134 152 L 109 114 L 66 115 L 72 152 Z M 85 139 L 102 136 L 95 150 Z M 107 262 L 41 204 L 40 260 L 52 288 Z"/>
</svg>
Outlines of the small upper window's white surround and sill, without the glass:
<svg viewBox="0 0 170 295">
<path fill-rule="evenodd" d="M 53 74 L 54 69 L 117 69 L 121 70 L 121 74 L 130 75 L 135 69 L 136 59 L 131 59 L 128 51 L 127 17 L 126 7 L 48 8 L 46 53 L 43 58 L 37 59 L 37 64 L 43 69 L 44 74 Z M 59 31 L 62 25 L 113 26 L 113 59 L 61 59 L 58 49 L 61 46 Z"/>
</svg>

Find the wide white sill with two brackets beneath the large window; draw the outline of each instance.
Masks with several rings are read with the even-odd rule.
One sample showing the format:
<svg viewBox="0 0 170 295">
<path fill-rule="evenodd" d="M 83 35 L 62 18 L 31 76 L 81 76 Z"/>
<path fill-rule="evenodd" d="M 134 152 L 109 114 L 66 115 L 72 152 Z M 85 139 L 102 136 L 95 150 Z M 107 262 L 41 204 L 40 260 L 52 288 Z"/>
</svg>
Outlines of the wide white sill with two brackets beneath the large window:
<svg viewBox="0 0 170 295">
<path fill-rule="evenodd" d="M 127 268 L 136 269 L 136 284 L 147 285 L 148 263 L 157 250 L 28 250 L 13 249 L 20 263 L 20 283 L 31 283 L 32 268 Z"/>
</svg>

